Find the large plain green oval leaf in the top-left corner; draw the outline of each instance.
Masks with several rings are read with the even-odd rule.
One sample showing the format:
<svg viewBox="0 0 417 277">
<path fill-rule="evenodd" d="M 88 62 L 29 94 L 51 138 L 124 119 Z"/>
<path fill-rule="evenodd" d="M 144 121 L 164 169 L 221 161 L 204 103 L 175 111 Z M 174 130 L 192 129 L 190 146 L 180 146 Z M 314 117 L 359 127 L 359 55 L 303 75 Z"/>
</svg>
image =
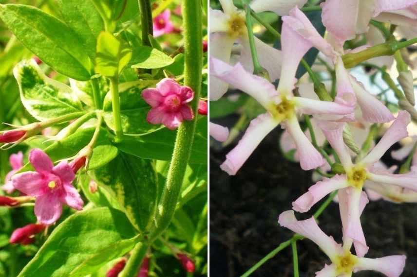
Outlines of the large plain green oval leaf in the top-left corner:
<svg viewBox="0 0 417 277">
<path fill-rule="evenodd" d="M 88 80 L 92 64 L 75 32 L 38 8 L 7 4 L 0 17 L 45 64 L 76 80 Z"/>
</svg>

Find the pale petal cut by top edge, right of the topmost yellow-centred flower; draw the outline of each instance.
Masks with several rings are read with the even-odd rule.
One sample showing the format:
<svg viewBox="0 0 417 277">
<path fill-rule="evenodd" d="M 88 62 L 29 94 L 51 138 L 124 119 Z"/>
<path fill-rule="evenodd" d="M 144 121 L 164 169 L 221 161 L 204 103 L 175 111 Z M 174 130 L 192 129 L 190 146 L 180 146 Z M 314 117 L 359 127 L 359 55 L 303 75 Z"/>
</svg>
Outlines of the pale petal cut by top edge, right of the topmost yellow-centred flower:
<svg viewBox="0 0 417 277">
<path fill-rule="evenodd" d="M 307 0 L 253 0 L 250 7 L 256 13 L 274 12 L 280 17 L 288 15 L 295 6 L 303 7 Z"/>
</svg>

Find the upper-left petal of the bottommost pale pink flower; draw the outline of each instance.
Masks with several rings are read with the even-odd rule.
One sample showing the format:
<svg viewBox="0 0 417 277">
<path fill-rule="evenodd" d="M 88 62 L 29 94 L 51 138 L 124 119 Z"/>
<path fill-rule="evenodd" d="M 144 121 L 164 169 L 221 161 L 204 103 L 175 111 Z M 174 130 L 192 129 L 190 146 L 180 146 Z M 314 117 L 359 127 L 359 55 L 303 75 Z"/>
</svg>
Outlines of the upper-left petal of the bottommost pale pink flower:
<svg viewBox="0 0 417 277">
<path fill-rule="evenodd" d="M 343 252 L 340 244 L 336 243 L 332 237 L 324 234 L 314 217 L 306 220 L 297 220 L 294 216 L 294 211 L 287 210 L 280 214 L 278 223 L 315 242 L 330 259 Z"/>
</svg>

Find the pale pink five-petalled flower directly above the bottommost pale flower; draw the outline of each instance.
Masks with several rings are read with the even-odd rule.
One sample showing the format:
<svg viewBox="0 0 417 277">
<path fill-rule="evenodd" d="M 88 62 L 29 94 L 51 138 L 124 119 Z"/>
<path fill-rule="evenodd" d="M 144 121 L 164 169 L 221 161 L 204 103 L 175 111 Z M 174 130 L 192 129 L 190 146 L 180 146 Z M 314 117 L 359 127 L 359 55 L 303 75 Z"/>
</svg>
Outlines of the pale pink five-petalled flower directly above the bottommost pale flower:
<svg viewBox="0 0 417 277">
<path fill-rule="evenodd" d="M 342 213 L 343 224 L 346 226 L 343 242 L 350 249 L 352 242 L 355 245 L 358 256 L 363 257 L 368 247 L 363 236 L 362 227 L 360 225 L 360 199 L 362 196 L 362 187 L 365 181 L 370 180 L 376 183 L 390 184 L 400 186 L 410 190 L 417 191 L 417 174 L 392 174 L 388 172 L 380 172 L 374 167 L 380 157 L 398 140 L 408 136 L 407 125 L 410 123 L 410 114 L 405 111 L 398 113 L 397 119 L 391 127 L 385 132 L 378 144 L 365 156 L 362 160 L 356 161 L 354 164 L 351 160 L 347 147 L 343 143 L 342 132 L 345 123 L 325 122 L 322 121 L 320 126 L 326 136 L 328 142 L 338 154 L 345 174 L 336 175 L 330 179 L 325 178 L 323 181 L 316 183 L 308 189 L 296 201 L 294 201 L 293 209 L 299 212 L 308 211 L 314 204 L 320 201 L 328 193 L 339 190 L 339 201 L 343 195 L 348 198 L 348 212 Z M 349 215 L 346 219 L 345 216 Z M 346 246 L 347 247 L 347 246 Z"/>
</svg>

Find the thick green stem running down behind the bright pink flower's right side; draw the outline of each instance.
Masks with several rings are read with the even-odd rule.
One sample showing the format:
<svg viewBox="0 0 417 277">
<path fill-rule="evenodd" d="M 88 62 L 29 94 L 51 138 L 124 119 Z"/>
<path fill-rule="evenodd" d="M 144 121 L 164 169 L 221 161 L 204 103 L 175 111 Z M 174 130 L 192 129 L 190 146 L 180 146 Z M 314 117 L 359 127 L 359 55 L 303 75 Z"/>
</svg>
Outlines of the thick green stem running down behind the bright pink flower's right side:
<svg viewBox="0 0 417 277">
<path fill-rule="evenodd" d="M 181 192 L 187 163 L 190 159 L 195 134 L 203 61 L 201 0 L 183 0 L 182 8 L 185 49 L 184 85 L 191 87 L 194 91 L 194 99 L 190 106 L 195 116 L 192 121 L 182 122 L 178 128 L 167 182 L 156 214 L 155 226 L 151 229 L 151 241 L 156 239 L 171 223 Z"/>
</svg>

